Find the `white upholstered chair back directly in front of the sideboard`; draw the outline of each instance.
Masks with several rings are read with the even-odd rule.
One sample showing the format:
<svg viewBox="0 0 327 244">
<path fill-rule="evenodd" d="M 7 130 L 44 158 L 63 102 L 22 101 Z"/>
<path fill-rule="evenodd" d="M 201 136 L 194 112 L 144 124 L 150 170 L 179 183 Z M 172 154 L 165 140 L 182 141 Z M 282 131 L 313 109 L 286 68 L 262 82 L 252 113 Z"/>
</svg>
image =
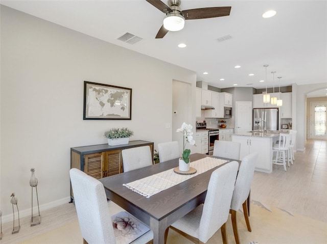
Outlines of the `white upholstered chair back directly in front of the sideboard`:
<svg viewBox="0 0 327 244">
<path fill-rule="evenodd" d="M 124 172 L 153 165 L 149 146 L 122 150 Z"/>
</svg>

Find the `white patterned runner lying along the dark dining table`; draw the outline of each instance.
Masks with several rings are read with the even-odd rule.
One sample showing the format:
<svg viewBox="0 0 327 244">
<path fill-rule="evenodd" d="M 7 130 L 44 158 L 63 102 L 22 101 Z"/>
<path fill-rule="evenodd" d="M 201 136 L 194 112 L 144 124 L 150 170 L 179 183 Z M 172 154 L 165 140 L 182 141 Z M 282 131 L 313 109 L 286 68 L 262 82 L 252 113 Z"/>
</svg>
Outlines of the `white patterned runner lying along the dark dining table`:
<svg viewBox="0 0 327 244">
<path fill-rule="evenodd" d="M 213 157 L 205 157 L 194 162 L 190 162 L 190 167 L 193 167 L 197 172 L 193 175 L 180 175 L 174 172 L 174 169 L 169 169 L 155 175 L 148 176 L 143 179 L 135 180 L 133 182 L 123 184 L 132 191 L 145 196 L 147 198 L 177 185 L 185 180 L 191 179 L 194 176 L 202 174 L 211 170 L 219 165 L 224 164 L 228 160 L 218 159 Z M 165 164 L 162 162 L 161 164 Z"/>
</svg>

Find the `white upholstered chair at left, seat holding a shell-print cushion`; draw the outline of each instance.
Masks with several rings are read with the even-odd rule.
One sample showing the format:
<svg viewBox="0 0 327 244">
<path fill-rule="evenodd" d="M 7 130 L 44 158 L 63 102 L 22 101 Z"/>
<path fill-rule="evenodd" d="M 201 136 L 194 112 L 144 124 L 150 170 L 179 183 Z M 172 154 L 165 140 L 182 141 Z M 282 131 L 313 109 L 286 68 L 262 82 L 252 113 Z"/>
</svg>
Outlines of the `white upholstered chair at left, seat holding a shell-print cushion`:
<svg viewBox="0 0 327 244">
<path fill-rule="evenodd" d="M 84 244 L 115 244 L 114 230 L 103 184 L 78 169 L 69 171 L 74 192 L 74 203 Z M 136 219 L 136 218 L 135 218 Z M 133 244 L 152 243 L 150 230 Z"/>
</svg>

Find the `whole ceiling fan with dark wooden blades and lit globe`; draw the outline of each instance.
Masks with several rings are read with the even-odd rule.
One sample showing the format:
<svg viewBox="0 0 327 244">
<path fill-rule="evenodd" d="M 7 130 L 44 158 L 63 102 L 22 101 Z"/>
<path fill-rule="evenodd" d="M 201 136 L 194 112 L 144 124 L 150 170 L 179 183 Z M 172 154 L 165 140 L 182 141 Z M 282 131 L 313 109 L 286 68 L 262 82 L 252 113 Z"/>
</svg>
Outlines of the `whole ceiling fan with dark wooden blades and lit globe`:
<svg viewBox="0 0 327 244">
<path fill-rule="evenodd" d="M 180 10 L 180 0 L 168 0 L 168 7 L 160 0 L 146 0 L 162 13 L 166 14 L 155 38 L 163 38 L 169 31 L 180 31 L 184 28 L 184 21 L 188 19 L 205 19 L 221 16 L 228 16 L 231 7 L 211 7 L 200 9 Z"/>
</svg>

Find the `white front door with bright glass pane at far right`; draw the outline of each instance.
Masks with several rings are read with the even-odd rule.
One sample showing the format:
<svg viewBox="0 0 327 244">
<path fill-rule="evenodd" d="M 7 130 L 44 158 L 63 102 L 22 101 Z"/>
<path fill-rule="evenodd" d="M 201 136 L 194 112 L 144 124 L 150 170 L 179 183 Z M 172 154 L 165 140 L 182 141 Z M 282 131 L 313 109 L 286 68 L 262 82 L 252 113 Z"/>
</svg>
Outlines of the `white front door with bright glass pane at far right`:
<svg viewBox="0 0 327 244">
<path fill-rule="evenodd" d="M 311 139 L 327 140 L 326 107 L 327 102 L 311 102 L 310 135 Z"/>
</svg>

